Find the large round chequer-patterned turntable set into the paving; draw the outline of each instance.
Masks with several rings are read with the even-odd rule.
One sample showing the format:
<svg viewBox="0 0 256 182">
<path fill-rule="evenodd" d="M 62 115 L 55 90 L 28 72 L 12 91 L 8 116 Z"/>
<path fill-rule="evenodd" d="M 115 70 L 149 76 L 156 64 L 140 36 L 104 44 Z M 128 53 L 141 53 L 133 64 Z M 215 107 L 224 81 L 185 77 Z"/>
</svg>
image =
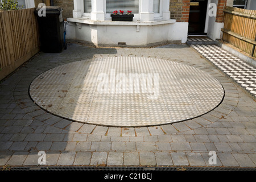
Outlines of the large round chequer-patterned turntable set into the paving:
<svg viewBox="0 0 256 182">
<path fill-rule="evenodd" d="M 30 96 L 50 113 L 107 126 L 184 121 L 214 109 L 224 97 L 200 69 L 143 57 L 108 57 L 65 64 L 36 77 Z"/>
</svg>

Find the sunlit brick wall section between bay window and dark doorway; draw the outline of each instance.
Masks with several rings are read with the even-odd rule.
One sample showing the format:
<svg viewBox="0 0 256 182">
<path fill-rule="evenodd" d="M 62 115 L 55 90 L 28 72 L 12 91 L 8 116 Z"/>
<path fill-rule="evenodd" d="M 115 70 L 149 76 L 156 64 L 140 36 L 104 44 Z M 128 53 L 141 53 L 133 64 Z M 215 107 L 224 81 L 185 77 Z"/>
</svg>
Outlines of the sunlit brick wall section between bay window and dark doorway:
<svg viewBox="0 0 256 182">
<path fill-rule="evenodd" d="M 170 18 L 176 22 L 188 22 L 190 0 L 170 0 Z"/>
</svg>

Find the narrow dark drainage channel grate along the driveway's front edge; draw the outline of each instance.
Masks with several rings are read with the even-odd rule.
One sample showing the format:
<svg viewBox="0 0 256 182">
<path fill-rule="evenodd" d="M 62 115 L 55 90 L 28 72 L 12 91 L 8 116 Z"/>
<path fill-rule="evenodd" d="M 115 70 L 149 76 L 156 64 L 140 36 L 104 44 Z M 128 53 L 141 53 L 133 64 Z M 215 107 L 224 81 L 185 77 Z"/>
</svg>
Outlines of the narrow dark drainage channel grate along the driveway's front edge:
<svg viewBox="0 0 256 182">
<path fill-rule="evenodd" d="M 92 166 L 60 166 L 60 167 L 9 167 L 0 171 L 256 171 L 256 168 L 240 167 L 92 167 Z"/>
</svg>

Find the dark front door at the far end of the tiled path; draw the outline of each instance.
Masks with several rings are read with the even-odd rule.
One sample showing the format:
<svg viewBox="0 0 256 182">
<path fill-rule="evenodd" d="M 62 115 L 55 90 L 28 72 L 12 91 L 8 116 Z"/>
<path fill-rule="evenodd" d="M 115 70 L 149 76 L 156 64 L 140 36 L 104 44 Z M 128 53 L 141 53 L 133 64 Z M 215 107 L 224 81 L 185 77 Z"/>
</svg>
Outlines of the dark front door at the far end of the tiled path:
<svg viewBox="0 0 256 182">
<path fill-rule="evenodd" d="M 205 18 L 207 13 L 207 0 L 191 0 L 189 19 L 188 19 L 188 34 L 203 35 L 205 27 Z"/>
</svg>

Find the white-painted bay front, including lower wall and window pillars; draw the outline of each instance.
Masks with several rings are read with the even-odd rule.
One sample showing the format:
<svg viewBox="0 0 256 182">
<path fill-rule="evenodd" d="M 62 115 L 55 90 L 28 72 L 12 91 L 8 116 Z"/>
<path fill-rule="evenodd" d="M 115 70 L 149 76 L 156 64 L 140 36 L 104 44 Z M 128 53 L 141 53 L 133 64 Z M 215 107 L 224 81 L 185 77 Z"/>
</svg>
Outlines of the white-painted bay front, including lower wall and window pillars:
<svg viewBox="0 0 256 182">
<path fill-rule="evenodd" d="M 68 18 L 67 39 L 84 41 L 95 46 L 149 46 L 171 41 L 187 41 L 188 23 L 170 19 L 170 0 L 160 1 L 160 13 L 155 16 L 153 0 L 139 1 L 139 14 L 133 22 L 112 22 L 106 14 L 106 0 L 92 0 L 92 12 L 82 16 L 83 1 L 74 1 L 73 18 Z M 85 14 L 84 14 L 85 15 Z M 160 15 L 160 17 L 159 17 Z"/>
</svg>

